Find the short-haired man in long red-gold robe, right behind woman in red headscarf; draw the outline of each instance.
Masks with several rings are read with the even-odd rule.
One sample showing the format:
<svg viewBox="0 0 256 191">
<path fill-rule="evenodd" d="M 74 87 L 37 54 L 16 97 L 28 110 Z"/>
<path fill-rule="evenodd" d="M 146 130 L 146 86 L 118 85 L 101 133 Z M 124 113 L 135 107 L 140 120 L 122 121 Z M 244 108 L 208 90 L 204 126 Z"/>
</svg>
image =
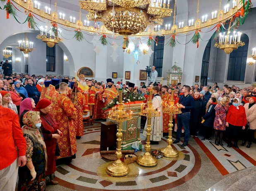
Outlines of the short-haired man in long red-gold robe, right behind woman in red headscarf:
<svg viewBox="0 0 256 191">
<path fill-rule="evenodd" d="M 72 101 L 66 95 L 68 93 L 68 84 L 60 83 L 60 93 L 53 98 L 53 118 L 60 124 L 59 130 L 63 132 L 63 136 L 58 139 L 57 143 L 60 148 L 60 156 L 58 158 L 69 157 L 69 161 L 74 158 L 77 152 L 75 140 L 75 126 L 77 109 Z"/>
</svg>

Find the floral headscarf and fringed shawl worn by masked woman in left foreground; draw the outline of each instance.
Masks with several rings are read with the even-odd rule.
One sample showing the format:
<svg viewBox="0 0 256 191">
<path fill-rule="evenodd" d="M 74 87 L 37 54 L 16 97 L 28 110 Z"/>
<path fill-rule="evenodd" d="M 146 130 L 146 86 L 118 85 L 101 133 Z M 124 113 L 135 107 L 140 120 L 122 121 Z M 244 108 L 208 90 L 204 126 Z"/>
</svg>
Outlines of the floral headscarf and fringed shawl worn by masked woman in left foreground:
<svg viewBox="0 0 256 191">
<path fill-rule="evenodd" d="M 46 152 L 46 145 L 43 141 L 43 136 L 41 134 L 40 128 L 36 127 L 35 121 L 37 116 L 40 116 L 39 111 L 28 111 L 23 116 L 23 123 L 24 126 L 22 127 L 22 132 L 24 134 L 24 137 L 29 137 L 31 141 L 33 142 L 34 147 L 41 147 L 43 146 L 44 157 L 45 157 L 45 163 L 46 163 L 46 170 L 47 170 L 47 152 Z"/>
</svg>

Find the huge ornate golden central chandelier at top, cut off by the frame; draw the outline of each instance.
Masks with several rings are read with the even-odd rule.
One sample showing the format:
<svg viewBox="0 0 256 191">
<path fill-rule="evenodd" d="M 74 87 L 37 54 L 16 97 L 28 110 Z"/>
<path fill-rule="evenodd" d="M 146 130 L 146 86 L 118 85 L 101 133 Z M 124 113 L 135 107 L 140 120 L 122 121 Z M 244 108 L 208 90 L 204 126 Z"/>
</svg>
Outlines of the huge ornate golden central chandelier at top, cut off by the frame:
<svg viewBox="0 0 256 191">
<path fill-rule="evenodd" d="M 144 31 L 147 26 L 163 24 L 163 17 L 171 16 L 169 0 L 87 0 L 80 6 L 89 12 L 87 19 L 102 21 L 113 33 L 133 35 Z"/>
</svg>

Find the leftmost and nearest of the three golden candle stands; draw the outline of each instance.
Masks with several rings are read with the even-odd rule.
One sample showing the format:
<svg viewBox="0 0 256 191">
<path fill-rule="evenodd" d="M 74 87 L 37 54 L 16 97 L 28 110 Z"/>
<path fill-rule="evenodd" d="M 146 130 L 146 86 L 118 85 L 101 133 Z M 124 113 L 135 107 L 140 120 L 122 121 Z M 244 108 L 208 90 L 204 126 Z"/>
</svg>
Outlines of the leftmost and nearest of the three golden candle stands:
<svg viewBox="0 0 256 191">
<path fill-rule="evenodd" d="M 127 164 L 123 163 L 120 158 L 122 157 L 122 151 L 121 151 L 121 138 L 123 136 L 122 133 L 122 123 L 124 121 L 128 121 L 131 120 L 133 118 L 133 112 L 128 110 L 126 111 L 124 109 L 124 104 L 122 102 L 123 97 L 122 97 L 122 89 L 119 89 L 119 102 L 118 102 L 118 107 L 114 107 L 112 108 L 112 111 L 109 111 L 109 116 L 107 118 L 109 118 L 112 121 L 115 121 L 118 123 L 118 128 L 117 128 L 117 133 L 116 133 L 116 160 L 109 164 L 106 167 L 106 172 L 114 177 L 121 177 L 124 176 L 126 174 L 128 174 L 130 172 L 130 169 L 128 167 Z"/>
</svg>

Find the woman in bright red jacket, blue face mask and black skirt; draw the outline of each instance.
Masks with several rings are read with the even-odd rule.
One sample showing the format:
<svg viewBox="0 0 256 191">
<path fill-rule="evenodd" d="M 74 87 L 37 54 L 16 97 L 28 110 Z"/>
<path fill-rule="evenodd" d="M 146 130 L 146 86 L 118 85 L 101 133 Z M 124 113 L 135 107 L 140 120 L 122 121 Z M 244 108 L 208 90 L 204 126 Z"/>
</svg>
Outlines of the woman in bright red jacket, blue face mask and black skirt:
<svg viewBox="0 0 256 191">
<path fill-rule="evenodd" d="M 245 129 L 247 123 L 246 113 L 244 107 L 241 105 L 241 100 L 238 98 L 233 99 L 233 105 L 229 107 L 226 118 L 227 137 L 228 144 L 227 147 L 231 147 L 232 138 L 234 140 L 234 147 L 239 149 L 237 142 L 239 139 L 239 133 L 241 130 Z"/>
</svg>

